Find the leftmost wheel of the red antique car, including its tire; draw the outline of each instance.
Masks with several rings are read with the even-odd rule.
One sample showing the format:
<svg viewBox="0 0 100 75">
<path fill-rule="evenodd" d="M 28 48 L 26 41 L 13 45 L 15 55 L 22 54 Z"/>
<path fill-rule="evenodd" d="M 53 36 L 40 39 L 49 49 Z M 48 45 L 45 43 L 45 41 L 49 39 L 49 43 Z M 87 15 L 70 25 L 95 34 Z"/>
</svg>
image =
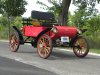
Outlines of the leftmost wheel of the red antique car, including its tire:
<svg viewBox="0 0 100 75">
<path fill-rule="evenodd" d="M 19 49 L 19 36 L 17 34 L 17 32 L 11 33 L 10 35 L 10 39 L 9 39 L 9 46 L 10 46 L 10 50 L 12 52 L 17 52 Z"/>
</svg>

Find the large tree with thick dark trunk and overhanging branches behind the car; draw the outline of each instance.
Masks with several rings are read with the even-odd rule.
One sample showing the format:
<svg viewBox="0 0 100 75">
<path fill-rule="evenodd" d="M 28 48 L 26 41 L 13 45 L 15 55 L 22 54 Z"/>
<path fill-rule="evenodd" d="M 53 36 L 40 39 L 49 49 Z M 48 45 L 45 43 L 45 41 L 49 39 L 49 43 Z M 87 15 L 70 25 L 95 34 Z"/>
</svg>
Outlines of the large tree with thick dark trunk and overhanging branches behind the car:
<svg viewBox="0 0 100 75">
<path fill-rule="evenodd" d="M 48 0 L 50 3 L 53 4 L 53 8 L 55 7 L 55 9 L 52 9 L 53 12 L 56 11 L 60 11 L 57 12 L 59 15 L 59 19 L 58 22 L 61 25 L 65 25 L 68 22 L 68 10 L 69 10 L 69 6 L 71 1 L 73 1 L 73 4 L 76 5 L 77 7 L 82 7 L 84 6 L 84 3 L 86 3 L 86 8 L 88 8 L 88 6 L 91 6 L 91 8 L 88 8 L 89 13 L 93 13 L 94 12 L 94 7 L 95 5 L 100 2 L 100 0 Z M 58 3 L 60 2 L 60 3 Z M 48 7 L 46 4 L 44 3 L 40 3 L 44 6 L 46 6 L 48 9 L 47 10 L 51 10 L 50 8 L 52 7 Z"/>
</svg>

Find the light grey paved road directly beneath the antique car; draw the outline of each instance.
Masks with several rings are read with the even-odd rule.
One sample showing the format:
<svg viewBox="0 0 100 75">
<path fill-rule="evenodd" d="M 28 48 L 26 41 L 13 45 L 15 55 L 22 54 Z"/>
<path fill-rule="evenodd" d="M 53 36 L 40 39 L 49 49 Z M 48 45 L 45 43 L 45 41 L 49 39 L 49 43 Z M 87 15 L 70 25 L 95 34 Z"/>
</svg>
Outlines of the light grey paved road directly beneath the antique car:
<svg viewBox="0 0 100 75">
<path fill-rule="evenodd" d="M 12 53 L 4 42 L 0 42 L 0 56 L 60 75 L 100 75 L 100 56 L 88 55 L 80 59 L 72 52 L 53 49 L 48 59 L 41 59 L 36 49 L 29 45 L 20 46 L 17 53 Z"/>
</svg>

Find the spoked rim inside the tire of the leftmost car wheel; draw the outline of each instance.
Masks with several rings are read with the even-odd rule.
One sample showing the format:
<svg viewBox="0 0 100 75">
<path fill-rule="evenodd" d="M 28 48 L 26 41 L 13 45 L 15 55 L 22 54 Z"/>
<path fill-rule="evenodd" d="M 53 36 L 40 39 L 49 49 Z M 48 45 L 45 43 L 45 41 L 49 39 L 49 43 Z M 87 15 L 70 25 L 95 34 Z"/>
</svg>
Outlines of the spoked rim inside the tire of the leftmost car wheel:
<svg viewBox="0 0 100 75">
<path fill-rule="evenodd" d="M 18 46 L 19 46 L 19 42 L 18 42 L 18 38 L 16 35 L 13 34 L 10 36 L 9 46 L 10 46 L 11 51 L 13 51 L 13 52 L 17 51 Z"/>
</svg>

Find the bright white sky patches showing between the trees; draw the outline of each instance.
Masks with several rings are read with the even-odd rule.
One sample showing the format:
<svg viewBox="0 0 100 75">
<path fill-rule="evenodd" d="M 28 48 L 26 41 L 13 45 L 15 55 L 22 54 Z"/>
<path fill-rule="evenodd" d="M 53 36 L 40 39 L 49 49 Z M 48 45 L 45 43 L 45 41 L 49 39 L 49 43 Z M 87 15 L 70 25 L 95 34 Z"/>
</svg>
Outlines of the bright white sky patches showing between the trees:
<svg viewBox="0 0 100 75">
<path fill-rule="evenodd" d="M 37 11 L 46 11 L 46 10 L 43 10 L 41 9 L 41 5 L 39 4 L 36 4 L 37 0 L 26 0 L 28 2 L 28 5 L 26 6 L 26 9 L 27 11 L 23 14 L 23 17 L 30 17 L 31 16 L 31 11 L 32 10 L 37 10 Z M 50 3 L 48 3 L 48 0 L 39 0 L 45 4 L 47 4 L 48 6 L 51 6 Z M 100 4 L 98 4 L 96 6 L 97 9 L 99 9 L 99 13 L 100 13 Z M 74 14 L 74 11 L 76 10 L 77 8 L 71 4 L 70 5 L 70 8 L 69 8 L 69 11 Z"/>
</svg>

